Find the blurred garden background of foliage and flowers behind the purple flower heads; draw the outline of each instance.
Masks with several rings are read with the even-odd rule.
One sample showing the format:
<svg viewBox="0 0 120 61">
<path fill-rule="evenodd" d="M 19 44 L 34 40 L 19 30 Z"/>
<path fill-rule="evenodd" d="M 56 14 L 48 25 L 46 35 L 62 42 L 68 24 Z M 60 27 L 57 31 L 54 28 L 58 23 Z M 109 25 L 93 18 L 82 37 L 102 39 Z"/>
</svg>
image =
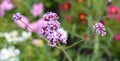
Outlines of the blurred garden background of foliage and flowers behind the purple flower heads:
<svg viewBox="0 0 120 61">
<path fill-rule="evenodd" d="M 120 61 L 120 0 L 0 0 L 0 61 L 69 61 L 58 46 L 15 24 L 16 12 L 30 26 L 46 12 L 57 13 L 68 34 L 61 45 L 72 61 Z M 105 36 L 93 30 L 96 22 Z"/>
</svg>

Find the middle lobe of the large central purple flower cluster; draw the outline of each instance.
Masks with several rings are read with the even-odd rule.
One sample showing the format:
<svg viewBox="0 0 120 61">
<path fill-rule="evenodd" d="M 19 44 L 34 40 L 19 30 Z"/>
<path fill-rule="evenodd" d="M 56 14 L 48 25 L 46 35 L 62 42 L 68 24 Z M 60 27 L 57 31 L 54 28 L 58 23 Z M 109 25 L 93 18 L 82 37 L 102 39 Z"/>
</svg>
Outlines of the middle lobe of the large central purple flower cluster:
<svg viewBox="0 0 120 61">
<path fill-rule="evenodd" d="M 57 20 L 42 21 L 40 24 L 39 34 L 41 37 L 45 37 L 50 33 L 53 33 L 60 28 L 60 23 Z"/>
</svg>

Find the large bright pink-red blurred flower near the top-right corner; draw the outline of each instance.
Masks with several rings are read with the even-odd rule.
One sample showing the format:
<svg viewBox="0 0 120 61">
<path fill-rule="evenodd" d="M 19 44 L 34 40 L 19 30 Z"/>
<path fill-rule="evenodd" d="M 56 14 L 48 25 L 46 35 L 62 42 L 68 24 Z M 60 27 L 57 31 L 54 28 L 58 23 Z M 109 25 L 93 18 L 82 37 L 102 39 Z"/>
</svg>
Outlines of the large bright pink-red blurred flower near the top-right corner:
<svg viewBox="0 0 120 61">
<path fill-rule="evenodd" d="M 117 17 L 118 13 L 119 13 L 119 8 L 116 6 L 110 5 L 107 8 L 107 17 L 108 18 L 114 19 Z"/>
</svg>

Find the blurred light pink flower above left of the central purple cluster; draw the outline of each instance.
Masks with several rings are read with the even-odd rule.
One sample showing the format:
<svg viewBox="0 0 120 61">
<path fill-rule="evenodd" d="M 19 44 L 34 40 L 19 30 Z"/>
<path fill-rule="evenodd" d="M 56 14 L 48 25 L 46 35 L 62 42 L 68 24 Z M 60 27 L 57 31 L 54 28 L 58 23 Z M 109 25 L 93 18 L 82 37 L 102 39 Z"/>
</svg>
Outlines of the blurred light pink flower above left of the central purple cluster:
<svg viewBox="0 0 120 61">
<path fill-rule="evenodd" d="M 35 17 L 38 16 L 43 12 L 43 4 L 42 3 L 34 4 L 30 12 L 33 16 Z"/>
</svg>

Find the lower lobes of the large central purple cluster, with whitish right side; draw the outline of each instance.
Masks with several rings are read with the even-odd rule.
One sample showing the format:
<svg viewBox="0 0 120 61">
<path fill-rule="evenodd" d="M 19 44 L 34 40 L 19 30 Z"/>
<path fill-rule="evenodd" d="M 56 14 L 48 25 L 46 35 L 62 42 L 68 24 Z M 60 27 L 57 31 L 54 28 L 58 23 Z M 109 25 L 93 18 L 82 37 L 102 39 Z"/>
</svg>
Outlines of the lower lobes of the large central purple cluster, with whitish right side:
<svg viewBox="0 0 120 61">
<path fill-rule="evenodd" d="M 59 28 L 57 31 L 53 31 L 53 33 L 48 34 L 45 38 L 48 41 L 48 45 L 52 47 L 56 46 L 56 43 L 58 41 L 66 44 L 67 32 L 64 31 L 62 28 Z"/>
</svg>

